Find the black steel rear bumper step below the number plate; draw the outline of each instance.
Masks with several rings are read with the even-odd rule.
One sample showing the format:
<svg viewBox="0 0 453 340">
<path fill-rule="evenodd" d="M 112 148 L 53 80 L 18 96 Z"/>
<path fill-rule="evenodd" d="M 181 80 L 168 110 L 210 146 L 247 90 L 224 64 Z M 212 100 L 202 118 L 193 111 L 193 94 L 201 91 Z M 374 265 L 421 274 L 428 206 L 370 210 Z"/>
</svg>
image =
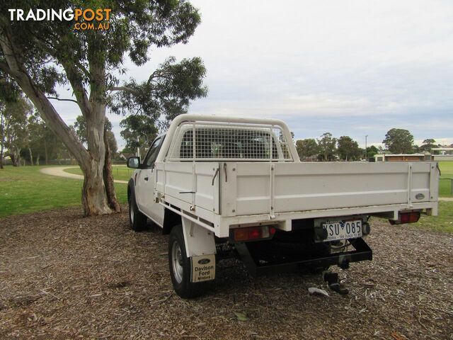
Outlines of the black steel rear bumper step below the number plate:
<svg viewBox="0 0 453 340">
<path fill-rule="evenodd" d="M 260 261 L 259 254 L 251 251 L 247 243 L 236 244 L 236 251 L 252 276 L 268 275 L 296 271 L 299 268 L 321 268 L 326 266 L 340 266 L 348 268 L 349 263 L 372 260 L 373 252 L 362 239 L 352 239 L 354 251 L 328 254 L 323 256 L 304 256 L 303 258 L 287 257 L 285 261 Z"/>
</svg>

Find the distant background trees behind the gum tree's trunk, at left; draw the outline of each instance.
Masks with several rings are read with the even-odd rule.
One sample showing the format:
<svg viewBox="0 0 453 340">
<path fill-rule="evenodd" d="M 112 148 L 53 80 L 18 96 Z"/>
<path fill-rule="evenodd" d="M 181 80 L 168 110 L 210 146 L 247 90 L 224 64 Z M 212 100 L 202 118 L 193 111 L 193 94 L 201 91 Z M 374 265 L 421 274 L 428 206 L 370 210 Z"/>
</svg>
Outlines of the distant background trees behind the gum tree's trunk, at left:
<svg viewBox="0 0 453 340">
<path fill-rule="evenodd" d="M 121 153 L 145 154 L 158 133 L 156 122 L 147 115 L 130 115 L 121 120 L 121 136 L 126 142 Z M 77 139 L 87 145 L 86 121 L 82 115 L 76 117 L 69 128 Z M 113 125 L 105 117 L 105 137 L 110 147 L 110 158 L 120 159 Z M 10 157 L 13 166 L 21 164 L 42 165 L 50 161 L 74 159 L 58 140 L 28 99 L 20 94 L 13 100 L 0 99 L 0 166 L 4 158 Z M 74 160 L 75 161 L 75 160 Z"/>
</svg>

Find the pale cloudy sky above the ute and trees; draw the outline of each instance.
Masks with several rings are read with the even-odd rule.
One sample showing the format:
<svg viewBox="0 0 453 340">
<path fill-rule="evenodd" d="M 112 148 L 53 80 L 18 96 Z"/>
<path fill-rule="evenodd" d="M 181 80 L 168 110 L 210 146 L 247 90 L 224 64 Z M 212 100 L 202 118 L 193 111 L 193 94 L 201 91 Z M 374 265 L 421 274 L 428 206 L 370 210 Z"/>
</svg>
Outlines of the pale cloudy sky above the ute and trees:
<svg viewBox="0 0 453 340">
<path fill-rule="evenodd" d="M 295 139 L 331 132 L 361 147 L 391 128 L 417 144 L 453 143 L 453 1 L 190 2 L 202 23 L 188 44 L 153 48 L 141 67 L 127 61 L 127 78 L 197 56 L 209 93 L 190 113 L 280 118 Z M 55 106 L 68 124 L 79 115 L 74 103 Z M 108 118 L 122 149 L 122 117 Z"/>
</svg>

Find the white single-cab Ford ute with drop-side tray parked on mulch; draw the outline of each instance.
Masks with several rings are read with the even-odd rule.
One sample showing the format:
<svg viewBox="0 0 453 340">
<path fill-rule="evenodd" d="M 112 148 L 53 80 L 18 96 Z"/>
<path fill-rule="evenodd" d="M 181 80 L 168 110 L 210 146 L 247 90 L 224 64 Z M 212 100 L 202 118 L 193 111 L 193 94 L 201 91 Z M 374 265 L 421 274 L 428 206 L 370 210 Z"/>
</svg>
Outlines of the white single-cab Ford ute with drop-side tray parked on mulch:
<svg viewBox="0 0 453 340">
<path fill-rule="evenodd" d="M 149 218 L 170 234 L 181 297 L 204 293 L 228 256 L 253 276 L 348 268 L 372 259 L 369 217 L 437 215 L 437 163 L 300 162 L 281 120 L 179 115 L 143 162 L 127 165 L 137 169 L 127 188 L 132 229 Z"/>
</svg>

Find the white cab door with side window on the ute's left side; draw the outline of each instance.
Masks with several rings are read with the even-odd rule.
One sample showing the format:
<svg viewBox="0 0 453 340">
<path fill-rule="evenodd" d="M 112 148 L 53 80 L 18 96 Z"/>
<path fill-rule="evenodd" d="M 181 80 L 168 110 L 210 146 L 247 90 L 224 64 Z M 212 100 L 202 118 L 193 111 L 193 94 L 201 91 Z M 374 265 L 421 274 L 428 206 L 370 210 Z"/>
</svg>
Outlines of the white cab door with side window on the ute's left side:
<svg viewBox="0 0 453 340">
<path fill-rule="evenodd" d="M 164 142 L 164 137 L 157 137 L 151 144 L 147 156 L 140 166 L 141 170 L 137 175 L 135 187 L 139 210 L 160 226 L 164 223 L 165 208 L 154 201 L 154 163 L 161 149 L 162 142 Z"/>
</svg>

